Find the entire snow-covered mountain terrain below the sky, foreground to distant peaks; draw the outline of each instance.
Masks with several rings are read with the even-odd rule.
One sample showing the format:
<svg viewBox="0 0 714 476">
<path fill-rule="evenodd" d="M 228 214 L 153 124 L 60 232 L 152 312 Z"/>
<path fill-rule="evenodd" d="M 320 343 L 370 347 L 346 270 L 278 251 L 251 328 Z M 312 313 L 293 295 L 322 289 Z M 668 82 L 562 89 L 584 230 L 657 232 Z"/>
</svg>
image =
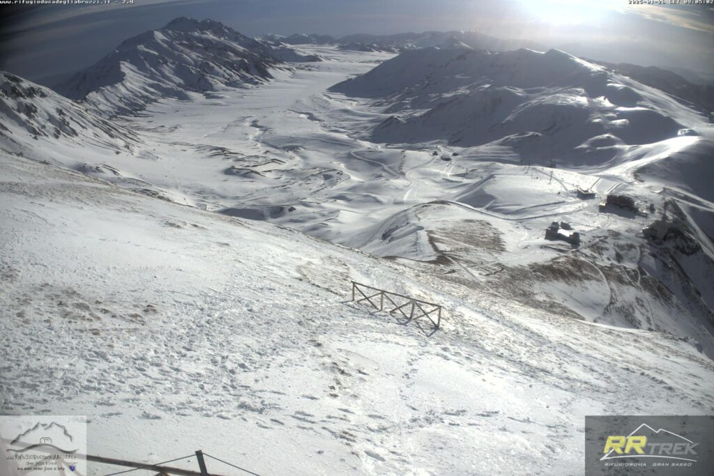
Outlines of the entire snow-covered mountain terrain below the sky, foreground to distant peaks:
<svg viewBox="0 0 714 476">
<path fill-rule="evenodd" d="M 713 413 L 701 103 L 563 51 L 311 38 L 176 19 L 59 93 L 0 73 L 2 412 L 261 475 L 582 474 L 585 415 Z"/>
</svg>

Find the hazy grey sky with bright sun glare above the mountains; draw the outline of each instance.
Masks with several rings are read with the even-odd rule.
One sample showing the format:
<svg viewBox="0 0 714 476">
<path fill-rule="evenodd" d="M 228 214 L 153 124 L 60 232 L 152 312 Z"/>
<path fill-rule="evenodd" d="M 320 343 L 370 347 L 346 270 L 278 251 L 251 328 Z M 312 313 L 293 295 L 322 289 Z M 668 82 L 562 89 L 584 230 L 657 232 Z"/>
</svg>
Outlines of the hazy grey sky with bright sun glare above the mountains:
<svg viewBox="0 0 714 476">
<path fill-rule="evenodd" d="M 0 6 L 0 69 L 48 83 L 91 66 L 131 36 L 188 16 L 218 20 L 249 36 L 475 30 L 590 59 L 686 68 L 714 78 L 714 7 L 684 1 L 111 0 L 96 6 Z"/>
</svg>

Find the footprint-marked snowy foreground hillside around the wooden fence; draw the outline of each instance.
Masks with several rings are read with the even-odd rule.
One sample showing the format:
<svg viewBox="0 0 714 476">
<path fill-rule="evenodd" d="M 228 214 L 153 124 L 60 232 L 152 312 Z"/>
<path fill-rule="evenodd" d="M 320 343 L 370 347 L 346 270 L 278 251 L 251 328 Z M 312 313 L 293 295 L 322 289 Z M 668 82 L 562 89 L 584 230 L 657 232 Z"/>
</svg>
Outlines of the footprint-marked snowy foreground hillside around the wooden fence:
<svg viewBox="0 0 714 476">
<path fill-rule="evenodd" d="M 201 447 L 281 475 L 578 474 L 584 415 L 714 410 L 714 365 L 685 339 L 5 153 L 0 223 L 0 411 L 88 415 L 91 455 Z M 469 236 L 492 253 L 516 243 L 485 226 L 434 240 Z M 350 280 L 441 303 L 443 328 L 426 337 L 351 303 Z"/>
</svg>

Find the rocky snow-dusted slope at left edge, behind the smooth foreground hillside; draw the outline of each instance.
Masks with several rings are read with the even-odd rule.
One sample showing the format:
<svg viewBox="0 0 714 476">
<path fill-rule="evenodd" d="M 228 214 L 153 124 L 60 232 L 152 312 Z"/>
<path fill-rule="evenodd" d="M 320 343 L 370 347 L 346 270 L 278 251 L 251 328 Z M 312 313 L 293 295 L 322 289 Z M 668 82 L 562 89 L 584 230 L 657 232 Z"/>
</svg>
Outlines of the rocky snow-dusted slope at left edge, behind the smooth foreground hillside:
<svg viewBox="0 0 714 476">
<path fill-rule="evenodd" d="M 191 203 L 140 178 L 159 172 L 161 157 L 134 128 L 98 116 L 83 103 L 49 88 L 0 72 L 0 149 L 6 153 L 72 168 L 152 196 Z M 165 171 L 164 171 L 165 175 Z"/>
</svg>

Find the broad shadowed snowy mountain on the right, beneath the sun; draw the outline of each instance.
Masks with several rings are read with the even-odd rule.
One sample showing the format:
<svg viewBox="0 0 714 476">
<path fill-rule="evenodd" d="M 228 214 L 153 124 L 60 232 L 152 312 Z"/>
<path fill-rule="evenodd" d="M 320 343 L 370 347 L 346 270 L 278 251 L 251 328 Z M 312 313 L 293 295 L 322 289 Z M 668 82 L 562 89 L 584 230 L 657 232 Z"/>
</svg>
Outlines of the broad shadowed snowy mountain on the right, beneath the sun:
<svg viewBox="0 0 714 476">
<path fill-rule="evenodd" d="M 530 160 L 613 165 L 628 146 L 677 138 L 705 118 L 662 91 L 562 51 L 406 51 L 331 91 L 379 98 L 386 143 L 497 143 Z"/>
</svg>

